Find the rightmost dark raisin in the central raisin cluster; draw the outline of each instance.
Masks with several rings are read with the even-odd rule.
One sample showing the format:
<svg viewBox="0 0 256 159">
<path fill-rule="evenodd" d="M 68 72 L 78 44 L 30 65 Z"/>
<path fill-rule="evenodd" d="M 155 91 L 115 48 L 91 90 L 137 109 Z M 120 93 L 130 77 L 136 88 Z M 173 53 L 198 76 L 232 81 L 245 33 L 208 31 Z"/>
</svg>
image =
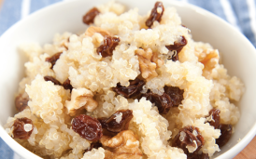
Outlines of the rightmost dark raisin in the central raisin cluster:
<svg viewBox="0 0 256 159">
<path fill-rule="evenodd" d="M 174 107 L 178 107 L 178 105 L 181 104 L 182 99 L 184 99 L 184 90 L 180 89 L 178 86 L 164 86 L 164 92 L 170 96 Z"/>
</svg>

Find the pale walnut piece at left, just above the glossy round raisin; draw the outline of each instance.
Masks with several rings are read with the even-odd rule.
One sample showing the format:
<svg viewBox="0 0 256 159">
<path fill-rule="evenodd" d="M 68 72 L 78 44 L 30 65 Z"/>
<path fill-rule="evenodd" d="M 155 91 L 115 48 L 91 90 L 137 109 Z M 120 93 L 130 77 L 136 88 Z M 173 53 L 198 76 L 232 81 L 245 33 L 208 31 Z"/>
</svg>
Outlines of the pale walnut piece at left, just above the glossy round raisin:
<svg viewBox="0 0 256 159">
<path fill-rule="evenodd" d="M 65 101 L 67 113 L 71 116 L 75 115 L 76 110 L 84 108 L 88 112 L 94 111 L 98 106 L 96 100 L 93 99 L 93 93 L 86 88 L 73 88 L 71 100 Z"/>
</svg>

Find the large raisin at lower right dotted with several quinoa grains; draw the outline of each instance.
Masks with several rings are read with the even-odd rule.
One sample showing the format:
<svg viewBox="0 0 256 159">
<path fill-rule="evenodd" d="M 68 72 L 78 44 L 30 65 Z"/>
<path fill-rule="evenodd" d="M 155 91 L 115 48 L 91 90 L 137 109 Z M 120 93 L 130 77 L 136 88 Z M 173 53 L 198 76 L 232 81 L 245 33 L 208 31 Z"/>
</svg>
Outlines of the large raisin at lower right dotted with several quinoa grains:
<svg viewBox="0 0 256 159">
<path fill-rule="evenodd" d="M 199 128 L 195 126 L 185 126 L 181 128 L 172 141 L 172 146 L 182 149 L 188 155 L 188 158 L 189 156 L 198 154 L 204 144 L 204 137 L 201 135 Z M 192 152 L 194 154 L 188 151 L 187 146 L 197 147 L 196 150 Z"/>
</svg>

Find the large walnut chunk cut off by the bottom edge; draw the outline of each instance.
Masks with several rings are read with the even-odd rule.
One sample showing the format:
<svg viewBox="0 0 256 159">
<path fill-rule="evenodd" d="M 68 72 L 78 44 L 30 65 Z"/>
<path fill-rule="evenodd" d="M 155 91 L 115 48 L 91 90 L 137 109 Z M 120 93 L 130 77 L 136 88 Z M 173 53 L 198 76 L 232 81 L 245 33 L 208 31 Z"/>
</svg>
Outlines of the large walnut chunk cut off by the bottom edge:
<svg viewBox="0 0 256 159">
<path fill-rule="evenodd" d="M 100 139 L 106 149 L 105 159 L 141 159 L 139 141 L 132 130 L 121 131 L 115 137 L 103 136 Z"/>
</svg>

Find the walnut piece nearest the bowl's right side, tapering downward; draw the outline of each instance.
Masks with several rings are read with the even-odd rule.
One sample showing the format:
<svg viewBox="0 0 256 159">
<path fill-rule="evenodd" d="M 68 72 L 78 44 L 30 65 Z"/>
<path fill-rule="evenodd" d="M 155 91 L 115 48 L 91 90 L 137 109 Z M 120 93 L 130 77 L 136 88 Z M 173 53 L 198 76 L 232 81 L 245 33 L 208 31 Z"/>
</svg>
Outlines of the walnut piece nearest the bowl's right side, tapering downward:
<svg viewBox="0 0 256 159">
<path fill-rule="evenodd" d="M 203 75 L 209 79 L 209 75 L 219 63 L 220 56 L 219 51 L 217 49 L 200 49 L 195 48 L 195 55 L 198 57 L 198 61 L 204 64 Z"/>
</svg>

